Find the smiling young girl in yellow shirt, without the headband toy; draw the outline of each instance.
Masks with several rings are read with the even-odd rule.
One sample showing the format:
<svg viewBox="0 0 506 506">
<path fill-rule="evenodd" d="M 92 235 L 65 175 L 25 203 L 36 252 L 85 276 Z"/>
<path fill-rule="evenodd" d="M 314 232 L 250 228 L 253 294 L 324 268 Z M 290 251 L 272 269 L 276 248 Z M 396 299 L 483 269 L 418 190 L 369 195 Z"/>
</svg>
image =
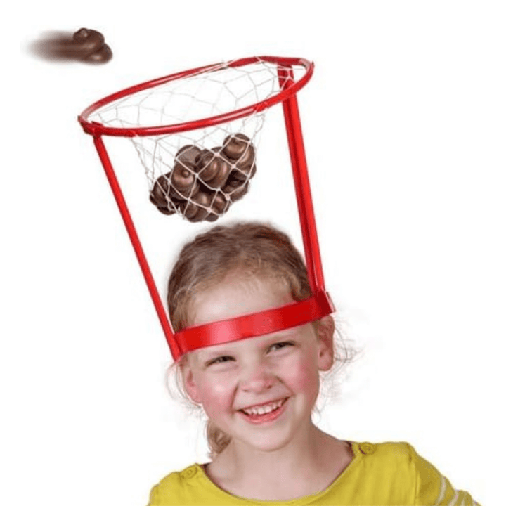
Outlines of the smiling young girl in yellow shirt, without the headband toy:
<svg viewBox="0 0 506 506">
<path fill-rule="evenodd" d="M 198 235 L 169 279 L 175 331 L 308 297 L 297 249 L 257 223 Z M 313 424 L 320 372 L 343 360 L 334 333 L 326 316 L 186 353 L 177 367 L 209 418 L 212 461 L 169 474 L 150 506 L 476 505 L 408 443 L 342 441 Z"/>
</svg>

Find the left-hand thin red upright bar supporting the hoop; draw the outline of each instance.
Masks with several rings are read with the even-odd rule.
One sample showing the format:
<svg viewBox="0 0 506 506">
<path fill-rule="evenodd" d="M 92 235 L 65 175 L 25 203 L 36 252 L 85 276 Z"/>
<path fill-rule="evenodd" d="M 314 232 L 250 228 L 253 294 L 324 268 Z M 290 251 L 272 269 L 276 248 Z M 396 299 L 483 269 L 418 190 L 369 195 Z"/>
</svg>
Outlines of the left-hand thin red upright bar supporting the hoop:
<svg viewBox="0 0 506 506">
<path fill-rule="evenodd" d="M 162 329 L 165 334 L 165 339 L 167 339 L 167 343 L 169 344 L 171 354 L 172 356 L 179 356 L 181 354 L 179 352 L 179 346 L 176 342 L 176 339 L 174 339 L 174 332 L 169 322 L 169 318 L 167 318 L 167 313 L 164 310 L 162 299 L 160 299 L 160 294 L 158 293 L 157 287 L 155 285 L 153 274 L 151 273 L 151 270 L 148 266 L 148 261 L 146 260 L 143 248 L 141 246 L 141 241 L 138 238 L 136 228 L 134 226 L 134 221 L 131 219 L 130 212 L 126 206 L 122 190 L 119 188 L 119 183 L 117 181 L 115 171 L 112 169 L 112 164 L 110 162 L 107 150 L 105 150 L 105 145 L 102 141 L 102 137 L 93 136 L 93 142 L 95 143 L 98 156 L 100 157 L 100 162 L 102 162 L 103 168 L 105 170 L 105 175 L 107 176 L 110 187 L 112 189 L 112 193 L 114 193 L 117 205 L 119 207 L 119 212 L 121 213 L 122 219 L 126 226 L 126 231 L 129 234 L 132 246 L 136 252 L 138 263 L 141 265 L 141 270 L 144 275 L 145 282 L 148 285 L 148 290 L 150 292 L 151 299 L 153 299 L 153 304 L 155 304 L 155 309 L 158 318 L 160 319 L 160 323 L 162 324 Z"/>
</svg>

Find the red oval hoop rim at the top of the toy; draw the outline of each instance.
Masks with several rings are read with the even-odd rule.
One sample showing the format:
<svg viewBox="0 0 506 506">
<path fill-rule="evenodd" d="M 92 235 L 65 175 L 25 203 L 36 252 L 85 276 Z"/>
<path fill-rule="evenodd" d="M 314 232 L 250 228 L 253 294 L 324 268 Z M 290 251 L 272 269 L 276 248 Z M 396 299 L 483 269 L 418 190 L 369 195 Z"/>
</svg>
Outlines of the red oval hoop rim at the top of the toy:
<svg viewBox="0 0 506 506">
<path fill-rule="evenodd" d="M 250 63 L 258 63 L 259 61 L 264 61 L 266 63 L 274 63 L 277 65 L 283 65 L 284 67 L 292 67 L 292 66 L 301 66 L 304 67 L 306 72 L 297 82 L 290 82 L 287 86 L 280 89 L 280 91 L 275 95 L 265 100 L 261 100 L 260 102 L 254 103 L 253 105 L 248 105 L 245 108 L 240 108 L 237 110 L 233 110 L 231 112 L 226 112 L 221 115 L 212 116 L 204 119 L 197 119 L 191 122 L 179 123 L 179 124 L 171 124 L 171 125 L 162 125 L 162 126 L 138 126 L 138 127 L 128 127 L 128 128 L 120 128 L 120 127 L 112 127 L 105 126 L 98 122 L 89 122 L 89 116 L 96 112 L 99 108 L 107 105 L 114 100 L 119 98 L 124 98 L 133 93 L 137 93 L 138 91 L 143 91 L 145 89 L 154 88 L 155 86 L 159 86 L 160 84 L 165 84 L 170 81 L 174 81 L 176 79 L 182 79 L 183 77 L 188 77 L 192 74 L 199 74 L 202 72 L 214 72 L 216 70 L 221 70 L 224 67 L 242 67 L 244 65 L 249 65 Z M 141 84 L 136 84 L 135 86 L 130 86 L 122 91 L 117 91 L 117 93 L 112 93 L 112 95 L 106 96 L 101 100 L 90 105 L 86 108 L 81 115 L 77 118 L 82 128 L 86 132 L 86 134 L 90 134 L 92 136 L 116 136 L 116 137 L 145 137 L 152 135 L 162 135 L 162 134 L 176 134 L 178 132 L 196 130 L 200 128 L 204 128 L 205 126 L 213 126 L 225 122 L 232 121 L 233 119 L 240 119 L 245 116 L 249 116 L 254 114 L 255 112 L 261 112 L 267 108 L 272 107 L 273 105 L 283 102 L 293 96 L 297 91 L 299 91 L 302 87 L 304 87 L 311 76 L 313 75 L 314 63 L 306 60 L 304 58 L 285 58 L 280 56 L 252 56 L 249 58 L 241 58 L 239 60 L 231 60 L 226 63 L 214 63 L 213 65 L 205 65 L 204 67 L 197 67 L 191 70 L 185 70 L 183 72 L 177 72 L 176 74 L 170 74 L 165 77 L 160 77 L 158 79 L 152 79 L 151 81 L 143 82 Z"/>
</svg>

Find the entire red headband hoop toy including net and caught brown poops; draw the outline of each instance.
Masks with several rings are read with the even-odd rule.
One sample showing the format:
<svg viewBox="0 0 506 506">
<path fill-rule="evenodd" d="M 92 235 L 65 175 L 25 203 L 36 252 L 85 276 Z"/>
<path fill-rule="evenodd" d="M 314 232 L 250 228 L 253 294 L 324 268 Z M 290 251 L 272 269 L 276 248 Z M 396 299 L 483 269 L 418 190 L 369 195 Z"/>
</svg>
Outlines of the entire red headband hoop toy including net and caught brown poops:
<svg viewBox="0 0 506 506">
<path fill-rule="evenodd" d="M 243 58 L 132 86 L 98 100 L 79 116 L 86 134 L 93 136 L 174 360 L 204 346 L 278 332 L 334 311 L 323 280 L 296 98 L 312 74 L 313 63 L 302 58 Z M 255 145 L 263 112 L 278 103 L 283 105 L 313 296 L 174 333 L 102 136 L 134 142 L 150 181 L 149 200 L 158 211 L 190 222 L 215 221 L 247 193 L 257 171 Z"/>
</svg>

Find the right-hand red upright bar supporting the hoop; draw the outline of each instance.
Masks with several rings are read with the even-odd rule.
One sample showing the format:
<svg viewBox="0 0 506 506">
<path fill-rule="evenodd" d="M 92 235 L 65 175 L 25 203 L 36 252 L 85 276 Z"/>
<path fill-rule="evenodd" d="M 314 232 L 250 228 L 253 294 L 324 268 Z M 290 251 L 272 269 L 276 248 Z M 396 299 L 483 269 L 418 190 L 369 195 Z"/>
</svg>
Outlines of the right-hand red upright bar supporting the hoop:
<svg viewBox="0 0 506 506">
<path fill-rule="evenodd" d="M 284 89 L 294 82 L 292 69 L 278 67 L 280 87 Z M 297 97 L 290 96 L 283 102 L 283 113 L 285 115 L 285 126 L 288 136 L 288 148 L 292 171 L 294 176 L 295 194 L 297 195 L 297 207 L 299 208 L 299 219 L 304 241 L 304 254 L 309 275 L 309 283 L 313 293 L 323 290 L 323 269 L 320 257 L 320 246 L 318 234 L 316 233 L 316 221 L 311 199 L 311 186 L 307 171 L 306 153 L 304 151 L 304 139 L 299 116 Z"/>
</svg>

